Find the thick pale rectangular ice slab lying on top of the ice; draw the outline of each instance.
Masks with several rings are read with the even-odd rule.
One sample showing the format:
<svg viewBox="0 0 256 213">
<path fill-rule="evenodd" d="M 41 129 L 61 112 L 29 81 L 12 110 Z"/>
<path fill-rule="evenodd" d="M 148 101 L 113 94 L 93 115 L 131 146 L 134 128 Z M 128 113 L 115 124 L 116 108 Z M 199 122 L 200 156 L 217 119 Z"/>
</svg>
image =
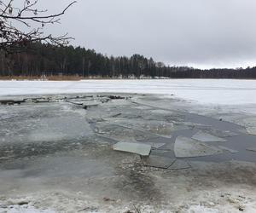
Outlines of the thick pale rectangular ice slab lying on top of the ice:
<svg viewBox="0 0 256 213">
<path fill-rule="evenodd" d="M 151 146 L 143 143 L 118 142 L 113 145 L 113 150 L 148 156 L 151 151 Z"/>
</svg>

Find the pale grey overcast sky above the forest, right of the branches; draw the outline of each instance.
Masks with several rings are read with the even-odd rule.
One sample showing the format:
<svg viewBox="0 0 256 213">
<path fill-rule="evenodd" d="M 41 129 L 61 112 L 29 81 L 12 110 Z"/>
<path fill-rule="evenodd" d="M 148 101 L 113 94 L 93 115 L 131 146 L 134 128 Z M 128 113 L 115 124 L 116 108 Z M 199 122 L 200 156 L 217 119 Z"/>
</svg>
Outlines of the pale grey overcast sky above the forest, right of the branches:
<svg viewBox="0 0 256 213">
<path fill-rule="evenodd" d="M 55 12 L 71 0 L 40 0 Z M 54 33 L 107 55 L 169 65 L 256 66 L 255 0 L 79 0 Z"/>
</svg>

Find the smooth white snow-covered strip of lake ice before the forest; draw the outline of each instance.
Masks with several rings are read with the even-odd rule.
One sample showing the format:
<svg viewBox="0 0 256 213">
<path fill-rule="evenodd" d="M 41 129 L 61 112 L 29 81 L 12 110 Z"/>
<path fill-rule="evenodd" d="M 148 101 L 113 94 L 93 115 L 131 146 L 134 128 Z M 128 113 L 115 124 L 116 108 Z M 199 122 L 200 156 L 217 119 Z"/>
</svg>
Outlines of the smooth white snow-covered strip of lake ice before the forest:
<svg viewBox="0 0 256 213">
<path fill-rule="evenodd" d="M 0 96 L 125 92 L 176 95 L 214 105 L 256 104 L 255 91 L 254 80 L 232 79 L 0 81 Z"/>
</svg>

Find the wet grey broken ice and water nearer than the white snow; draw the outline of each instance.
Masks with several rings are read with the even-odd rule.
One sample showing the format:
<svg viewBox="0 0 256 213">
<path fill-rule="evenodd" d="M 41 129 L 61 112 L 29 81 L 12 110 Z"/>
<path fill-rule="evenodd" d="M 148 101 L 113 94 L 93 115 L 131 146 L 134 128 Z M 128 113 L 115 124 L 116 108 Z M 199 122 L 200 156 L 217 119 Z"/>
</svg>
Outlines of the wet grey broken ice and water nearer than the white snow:
<svg viewBox="0 0 256 213">
<path fill-rule="evenodd" d="M 235 124 L 225 121 L 228 114 L 189 112 L 184 101 L 157 95 L 32 101 L 37 97 L 0 105 L 0 212 L 11 206 L 9 212 L 125 212 L 137 204 L 154 212 L 178 204 L 181 194 L 214 191 L 208 184 L 218 185 L 219 177 L 255 188 L 256 135 L 246 131 L 255 122 L 245 114 L 233 114 Z M 118 142 L 151 146 L 150 155 L 114 151 Z M 27 206 L 12 199 L 17 196 Z"/>
</svg>

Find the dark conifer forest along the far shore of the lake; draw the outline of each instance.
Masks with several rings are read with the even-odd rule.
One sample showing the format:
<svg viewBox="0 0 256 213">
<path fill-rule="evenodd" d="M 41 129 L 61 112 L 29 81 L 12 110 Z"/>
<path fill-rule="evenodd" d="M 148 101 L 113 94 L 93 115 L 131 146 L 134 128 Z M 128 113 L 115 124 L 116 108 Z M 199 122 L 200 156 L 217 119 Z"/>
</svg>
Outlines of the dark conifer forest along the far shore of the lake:
<svg viewBox="0 0 256 213">
<path fill-rule="evenodd" d="M 165 66 L 143 55 L 108 57 L 93 49 L 55 47 L 33 43 L 25 52 L 0 52 L 1 76 L 79 75 L 129 78 L 256 78 L 256 67 L 200 70 L 188 66 Z"/>
</svg>

